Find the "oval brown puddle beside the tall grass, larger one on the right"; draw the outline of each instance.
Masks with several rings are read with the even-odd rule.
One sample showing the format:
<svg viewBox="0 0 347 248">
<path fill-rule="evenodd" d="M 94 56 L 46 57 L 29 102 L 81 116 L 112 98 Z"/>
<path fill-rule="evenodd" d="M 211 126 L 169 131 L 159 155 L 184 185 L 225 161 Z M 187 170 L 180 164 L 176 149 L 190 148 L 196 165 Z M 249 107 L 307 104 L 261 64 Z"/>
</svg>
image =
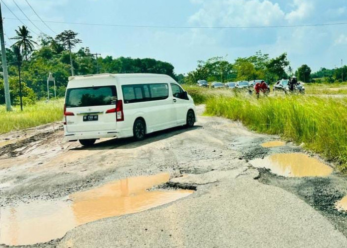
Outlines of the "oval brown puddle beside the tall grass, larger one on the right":
<svg viewBox="0 0 347 248">
<path fill-rule="evenodd" d="M 257 168 L 268 168 L 284 177 L 326 177 L 333 169 L 319 160 L 301 153 L 275 154 L 250 163 Z"/>
</svg>

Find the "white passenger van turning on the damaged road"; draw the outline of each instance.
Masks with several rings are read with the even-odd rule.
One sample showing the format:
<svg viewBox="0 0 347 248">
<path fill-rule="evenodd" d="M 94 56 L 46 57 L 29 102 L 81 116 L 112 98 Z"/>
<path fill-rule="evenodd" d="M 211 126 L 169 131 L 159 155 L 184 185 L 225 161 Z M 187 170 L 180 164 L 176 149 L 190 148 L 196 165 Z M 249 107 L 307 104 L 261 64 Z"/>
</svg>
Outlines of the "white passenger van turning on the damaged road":
<svg viewBox="0 0 347 248">
<path fill-rule="evenodd" d="M 172 77 L 98 74 L 69 77 L 64 105 L 67 141 L 134 137 L 196 122 L 193 99 Z"/>
</svg>

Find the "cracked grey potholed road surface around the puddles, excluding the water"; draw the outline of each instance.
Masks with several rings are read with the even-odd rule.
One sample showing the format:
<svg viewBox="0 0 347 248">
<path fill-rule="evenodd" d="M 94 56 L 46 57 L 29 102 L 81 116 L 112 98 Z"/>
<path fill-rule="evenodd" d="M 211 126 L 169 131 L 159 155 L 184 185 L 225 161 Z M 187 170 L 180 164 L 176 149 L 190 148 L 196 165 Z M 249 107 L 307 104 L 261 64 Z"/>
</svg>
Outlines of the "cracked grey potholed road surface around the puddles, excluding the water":
<svg viewBox="0 0 347 248">
<path fill-rule="evenodd" d="M 198 106 L 200 114 L 203 110 Z M 206 116 L 199 116 L 194 128 L 173 128 L 140 142 L 110 139 L 83 148 L 63 141 L 62 135 L 60 124 L 0 135 L 0 142 L 6 141 L 0 143 L 1 206 L 62 199 L 115 180 L 163 172 L 171 180 L 162 188 L 196 191 L 147 211 L 78 226 L 64 237 L 27 248 L 347 247 L 346 214 L 335 213 L 334 202 L 320 207 L 347 193 L 345 178 L 289 180 L 249 164 L 271 153 L 305 152 L 290 143 L 260 146 L 277 136 Z M 17 142 L 8 144 L 11 140 Z M 325 184 L 317 189 L 319 180 Z M 324 194 L 332 190 L 335 198 Z"/>
</svg>

